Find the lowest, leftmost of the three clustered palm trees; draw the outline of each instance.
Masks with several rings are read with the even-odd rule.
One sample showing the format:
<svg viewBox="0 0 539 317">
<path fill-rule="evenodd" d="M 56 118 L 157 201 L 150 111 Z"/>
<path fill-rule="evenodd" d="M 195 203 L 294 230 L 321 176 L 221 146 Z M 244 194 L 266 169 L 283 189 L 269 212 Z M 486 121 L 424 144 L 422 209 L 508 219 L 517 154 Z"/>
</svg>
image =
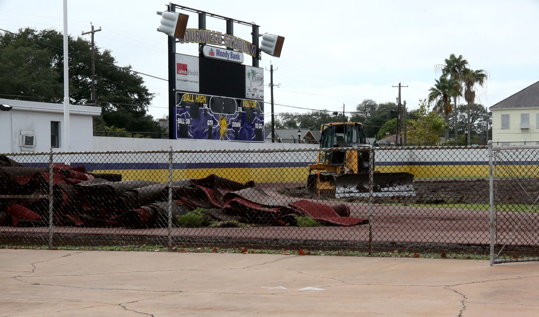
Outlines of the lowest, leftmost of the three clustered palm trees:
<svg viewBox="0 0 539 317">
<path fill-rule="evenodd" d="M 436 79 L 436 85 L 429 89 L 429 98 L 427 101 L 429 104 L 434 103 L 434 109 L 441 112 L 445 116 L 445 140 L 449 140 L 449 114 L 452 112 L 451 98 L 461 96 L 462 93 L 457 89 L 457 80 L 448 79 L 444 75 L 440 79 Z"/>
</svg>

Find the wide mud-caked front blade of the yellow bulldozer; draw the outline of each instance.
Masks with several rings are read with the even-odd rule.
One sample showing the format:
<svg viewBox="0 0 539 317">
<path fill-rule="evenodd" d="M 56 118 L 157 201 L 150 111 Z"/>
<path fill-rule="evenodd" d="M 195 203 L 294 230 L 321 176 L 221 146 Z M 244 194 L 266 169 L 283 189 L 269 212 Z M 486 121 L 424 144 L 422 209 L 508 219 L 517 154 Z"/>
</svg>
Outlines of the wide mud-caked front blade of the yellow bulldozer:
<svg viewBox="0 0 539 317">
<path fill-rule="evenodd" d="M 342 174 L 335 177 L 335 198 L 369 197 L 369 173 Z M 410 173 L 375 173 L 372 195 L 375 197 L 416 196 Z"/>
</svg>

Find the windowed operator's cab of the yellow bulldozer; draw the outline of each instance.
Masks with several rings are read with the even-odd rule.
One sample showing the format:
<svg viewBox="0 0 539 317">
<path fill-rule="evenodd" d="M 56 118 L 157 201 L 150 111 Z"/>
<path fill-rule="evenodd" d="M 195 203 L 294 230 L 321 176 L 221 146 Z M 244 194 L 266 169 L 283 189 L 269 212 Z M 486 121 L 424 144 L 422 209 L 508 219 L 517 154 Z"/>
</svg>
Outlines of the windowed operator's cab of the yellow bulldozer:
<svg viewBox="0 0 539 317">
<path fill-rule="evenodd" d="M 363 125 L 358 122 L 329 123 L 322 125 L 321 148 L 348 148 L 366 146 Z M 346 151 L 321 153 L 320 163 L 343 166 Z"/>
</svg>

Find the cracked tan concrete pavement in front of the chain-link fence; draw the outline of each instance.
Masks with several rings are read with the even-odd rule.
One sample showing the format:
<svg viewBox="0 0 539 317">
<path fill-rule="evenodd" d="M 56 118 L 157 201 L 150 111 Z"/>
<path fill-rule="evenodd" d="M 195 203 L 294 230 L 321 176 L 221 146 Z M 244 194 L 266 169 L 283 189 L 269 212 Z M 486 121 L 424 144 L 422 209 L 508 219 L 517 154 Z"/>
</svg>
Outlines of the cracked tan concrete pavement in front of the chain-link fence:
<svg viewBox="0 0 539 317">
<path fill-rule="evenodd" d="M 0 316 L 493 315 L 539 315 L 539 263 L 0 250 Z"/>
</svg>

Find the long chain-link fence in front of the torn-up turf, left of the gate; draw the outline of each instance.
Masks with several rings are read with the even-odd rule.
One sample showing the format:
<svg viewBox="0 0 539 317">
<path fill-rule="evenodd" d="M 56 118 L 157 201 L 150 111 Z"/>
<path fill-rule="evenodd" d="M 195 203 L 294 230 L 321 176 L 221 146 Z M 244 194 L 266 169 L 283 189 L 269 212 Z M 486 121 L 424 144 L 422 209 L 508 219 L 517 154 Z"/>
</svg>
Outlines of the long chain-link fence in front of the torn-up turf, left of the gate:
<svg viewBox="0 0 539 317">
<path fill-rule="evenodd" d="M 5 154 L 0 190 L 5 244 L 490 254 L 486 146 Z"/>
</svg>

